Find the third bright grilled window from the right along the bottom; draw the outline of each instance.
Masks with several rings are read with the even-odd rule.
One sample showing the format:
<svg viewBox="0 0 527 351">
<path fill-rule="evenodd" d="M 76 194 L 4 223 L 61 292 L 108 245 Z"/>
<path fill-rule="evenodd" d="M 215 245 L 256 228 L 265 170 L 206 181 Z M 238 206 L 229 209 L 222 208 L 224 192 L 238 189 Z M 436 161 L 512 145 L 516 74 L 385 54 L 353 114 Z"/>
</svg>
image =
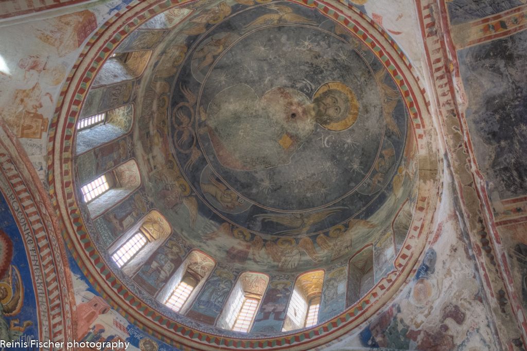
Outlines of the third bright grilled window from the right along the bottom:
<svg viewBox="0 0 527 351">
<path fill-rule="evenodd" d="M 201 251 L 192 250 L 160 290 L 157 300 L 175 312 L 184 314 L 215 266 L 216 262 L 211 257 Z"/>
</svg>

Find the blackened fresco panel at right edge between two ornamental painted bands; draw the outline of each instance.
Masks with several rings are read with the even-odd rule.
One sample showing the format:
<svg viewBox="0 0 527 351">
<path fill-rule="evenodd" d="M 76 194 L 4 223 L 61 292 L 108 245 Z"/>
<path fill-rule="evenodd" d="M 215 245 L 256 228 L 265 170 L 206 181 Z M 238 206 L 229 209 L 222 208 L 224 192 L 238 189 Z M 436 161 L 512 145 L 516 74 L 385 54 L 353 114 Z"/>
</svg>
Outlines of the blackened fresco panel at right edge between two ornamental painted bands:
<svg viewBox="0 0 527 351">
<path fill-rule="evenodd" d="M 493 201 L 527 194 L 526 32 L 458 51 L 476 158 Z M 477 78 L 476 78 L 477 77 Z M 496 84 L 508 77 L 509 84 Z M 498 156 L 506 155 L 506 156 Z"/>
</svg>

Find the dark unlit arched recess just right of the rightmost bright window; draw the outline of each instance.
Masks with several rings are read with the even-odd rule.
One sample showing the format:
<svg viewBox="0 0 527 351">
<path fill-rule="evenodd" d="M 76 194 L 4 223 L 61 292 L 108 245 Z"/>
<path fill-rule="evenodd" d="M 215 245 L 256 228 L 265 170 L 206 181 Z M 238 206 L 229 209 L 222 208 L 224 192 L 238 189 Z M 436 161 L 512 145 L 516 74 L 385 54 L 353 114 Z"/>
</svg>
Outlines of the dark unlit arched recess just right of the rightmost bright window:
<svg viewBox="0 0 527 351">
<path fill-rule="evenodd" d="M 373 246 L 358 250 L 349 260 L 346 305 L 351 306 L 375 285 L 373 274 Z"/>
</svg>

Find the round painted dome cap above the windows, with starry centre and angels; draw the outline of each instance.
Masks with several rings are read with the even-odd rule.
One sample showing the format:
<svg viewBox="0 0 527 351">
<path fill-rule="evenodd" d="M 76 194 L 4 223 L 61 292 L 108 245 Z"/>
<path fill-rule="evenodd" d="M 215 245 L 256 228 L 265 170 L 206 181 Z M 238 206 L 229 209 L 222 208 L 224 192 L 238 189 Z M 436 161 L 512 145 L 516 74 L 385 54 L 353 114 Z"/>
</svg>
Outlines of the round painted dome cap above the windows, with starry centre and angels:
<svg viewBox="0 0 527 351">
<path fill-rule="evenodd" d="M 415 182 L 403 98 L 374 53 L 289 2 L 220 3 L 179 28 L 135 134 L 174 231 L 260 272 L 320 268 L 384 235 Z"/>
</svg>

